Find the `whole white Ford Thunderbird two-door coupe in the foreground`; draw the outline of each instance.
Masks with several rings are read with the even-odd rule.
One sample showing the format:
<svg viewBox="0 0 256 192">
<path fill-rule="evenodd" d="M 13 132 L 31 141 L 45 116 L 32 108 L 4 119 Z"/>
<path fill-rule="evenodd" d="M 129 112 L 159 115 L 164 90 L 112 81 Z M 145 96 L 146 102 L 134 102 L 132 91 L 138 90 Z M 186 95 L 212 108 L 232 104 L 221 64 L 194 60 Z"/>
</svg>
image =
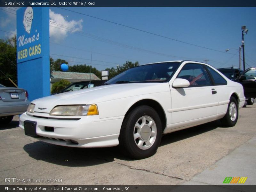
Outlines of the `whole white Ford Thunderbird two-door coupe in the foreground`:
<svg viewBox="0 0 256 192">
<path fill-rule="evenodd" d="M 20 127 L 47 143 L 120 145 L 141 159 L 156 153 L 162 134 L 217 119 L 234 126 L 245 102 L 241 84 L 194 61 L 141 65 L 105 84 L 33 100 Z"/>
</svg>

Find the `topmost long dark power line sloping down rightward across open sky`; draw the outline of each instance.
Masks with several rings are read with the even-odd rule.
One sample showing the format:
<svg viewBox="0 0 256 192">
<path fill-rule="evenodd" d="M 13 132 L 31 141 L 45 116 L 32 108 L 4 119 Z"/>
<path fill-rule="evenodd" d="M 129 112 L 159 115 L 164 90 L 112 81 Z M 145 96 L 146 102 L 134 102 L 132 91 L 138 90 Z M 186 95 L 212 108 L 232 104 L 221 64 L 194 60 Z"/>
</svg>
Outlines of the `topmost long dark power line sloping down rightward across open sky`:
<svg viewBox="0 0 256 192">
<path fill-rule="evenodd" d="M 74 13 L 77 13 L 77 14 L 85 15 L 85 16 L 88 16 L 88 17 L 92 17 L 94 19 L 103 20 L 103 21 L 106 21 L 106 22 L 109 22 L 109 23 L 113 23 L 113 24 L 116 24 L 116 25 L 120 25 L 120 26 L 126 27 L 126 28 L 131 28 L 131 29 L 134 29 L 134 30 L 137 30 L 137 31 L 141 31 L 141 32 L 144 32 L 144 33 L 148 33 L 148 34 L 151 34 L 151 35 L 155 35 L 155 36 L 163 37 L 163 38 L 170 39 L 170 40 L 173 40 L 173 41 L 177 41 L 177 42 L 180 42 L 180 43 L 189 44 L 189 45 L 193 45 L 193 46 L 196 46 L 196 47 L 201 47 L 201 48 L 212 50 L 212 51 L 216 51 L 216 52 L 228 53 L 228 52 L 223 52 L 223 51 L 219 51 L 219 50 L 216 50 L 216 49 L 212 49 L 212 48 L 208 48 L 208 47 L 204 47 L 204 46 L 200 46 L 200 45 L 196 45 L 196 44 L 187 43 L 187 42 L 184 42 L 184 41 L 173 39 L 171 37 L 159 35 L 159 34 L 152 33 L 152 32 L 149 32 L 149 31 L 145 31 L 145 30 L 142 30 L 142 29 L 139 29 L 139 28 L 130 27 L 130 26 L 127 26 L 127 25 L 124 25 L 124 24 L 116 23 L 116 22 L 113 22 L 113 21 L 110 21 L 110 20 L 101 19 L 99 17 L 94 17 L 94 16 L 91 16 L 91 15 L 88 15 L 88 14 L 72 11 L 72 10 L 69 10 L 69 9 L 62 8 L 62 7 L 58 7 L 58 8 L 64 9 L 64 10 L 67 10 L 67 11 L 70 11 L 70 12 L 74 12 Z M 228 54 L 232 54 L 232 53 L 228 53 Z"/>
</svg>

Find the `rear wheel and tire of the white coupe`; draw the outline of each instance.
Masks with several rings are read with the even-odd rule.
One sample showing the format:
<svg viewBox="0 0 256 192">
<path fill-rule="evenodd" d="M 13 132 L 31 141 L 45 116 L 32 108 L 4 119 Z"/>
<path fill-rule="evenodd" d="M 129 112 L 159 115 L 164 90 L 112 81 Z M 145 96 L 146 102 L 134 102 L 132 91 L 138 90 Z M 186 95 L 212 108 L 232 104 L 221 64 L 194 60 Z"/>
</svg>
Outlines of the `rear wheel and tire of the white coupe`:
<svg viewBox="0 0 256 192">
<path fill-rule="evenodd" d="M 238 119 L 238 105 L 234 97 L 230 97 L 226 115 L 220 119 L 223 126 L 233 127 Z"/>
</svg>

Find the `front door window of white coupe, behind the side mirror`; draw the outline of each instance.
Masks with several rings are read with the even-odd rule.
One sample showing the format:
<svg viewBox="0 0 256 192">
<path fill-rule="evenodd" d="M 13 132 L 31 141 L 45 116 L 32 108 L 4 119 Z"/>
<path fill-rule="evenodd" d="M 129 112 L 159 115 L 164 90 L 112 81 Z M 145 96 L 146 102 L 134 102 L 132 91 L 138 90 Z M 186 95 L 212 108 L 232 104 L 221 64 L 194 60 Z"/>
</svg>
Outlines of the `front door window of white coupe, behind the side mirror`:
<svg viewBox="0 0 256 192">
<path fill-rule="evenodd" d="M 189 87 L 211 85 L 211 81 L 201 64 L 188 63 L 184 65 L 177 78 L 188 80 Z"/>
</svg>

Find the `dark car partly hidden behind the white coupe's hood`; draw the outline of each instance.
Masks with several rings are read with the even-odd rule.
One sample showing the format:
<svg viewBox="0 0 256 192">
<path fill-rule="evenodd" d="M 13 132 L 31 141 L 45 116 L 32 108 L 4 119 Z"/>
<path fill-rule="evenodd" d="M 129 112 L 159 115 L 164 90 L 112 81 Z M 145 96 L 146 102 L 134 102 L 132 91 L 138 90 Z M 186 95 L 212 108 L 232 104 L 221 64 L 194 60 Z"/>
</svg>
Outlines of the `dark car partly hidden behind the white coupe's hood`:
<svg viewBox="0 0 256 192">
<path fill-rule="evenodd" d="M 69 92 L 69 91 L 77 91 L 77 90 L 80 90 L 80 89 L 92 88 L 92 87 L 102 85 L 105 82 L 106 82 L 106 80 L 92 80 L 91 84 L 90 84 L 90 81 L 75 82 L 75 83 L 72 83 L 72 84 L 68 85 L 61 92 L 63 93 L 63 92 Z"/>
</svg>

